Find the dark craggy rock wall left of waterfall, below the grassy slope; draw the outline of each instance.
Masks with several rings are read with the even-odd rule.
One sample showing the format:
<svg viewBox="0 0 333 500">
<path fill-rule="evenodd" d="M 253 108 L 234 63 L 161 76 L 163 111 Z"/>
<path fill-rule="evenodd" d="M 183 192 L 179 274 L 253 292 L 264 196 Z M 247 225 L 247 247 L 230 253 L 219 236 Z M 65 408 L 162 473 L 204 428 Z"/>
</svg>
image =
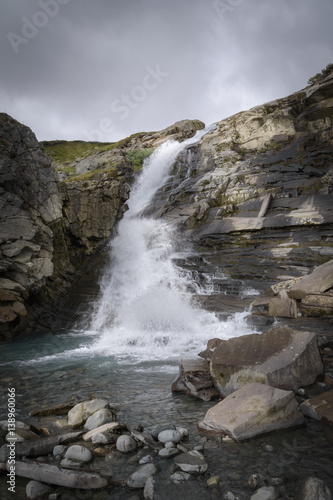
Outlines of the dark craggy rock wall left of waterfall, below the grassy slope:
<svg viewBox="0 0 333 500">
<path fill-rule="evenodd" d="M 64 296 L 110 236 L 129 196 L 131 163 L 60 184 L 32 131 L 0 115 L 0 338 L 31 327 Z M 125 170 L 125 172 L 124 172 Z M 48 322 L 48 320 L 44 322 Z"/>
</svg>

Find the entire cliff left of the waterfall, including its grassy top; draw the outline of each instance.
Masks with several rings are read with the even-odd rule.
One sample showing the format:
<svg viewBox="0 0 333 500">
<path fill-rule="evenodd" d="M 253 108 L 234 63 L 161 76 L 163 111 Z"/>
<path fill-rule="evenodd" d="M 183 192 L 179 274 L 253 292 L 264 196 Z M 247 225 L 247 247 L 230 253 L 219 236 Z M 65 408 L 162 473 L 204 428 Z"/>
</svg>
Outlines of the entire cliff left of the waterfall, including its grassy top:
<svg viewBox="0 0 333 500">
<path fill-rule="evenodd" d="M 0 339 L 54 324 L 56 306 L 96 267 L 126 210 L 135 166 L 168 137 L 184 140 L 203 126 L 184 120 L 93 152 L 84 144 L 84 154 L 55 164 L 28 127 L 0 114 Z M 46 149 L 59 144 L 71 157 L 71 143 Z"/>
</svg>

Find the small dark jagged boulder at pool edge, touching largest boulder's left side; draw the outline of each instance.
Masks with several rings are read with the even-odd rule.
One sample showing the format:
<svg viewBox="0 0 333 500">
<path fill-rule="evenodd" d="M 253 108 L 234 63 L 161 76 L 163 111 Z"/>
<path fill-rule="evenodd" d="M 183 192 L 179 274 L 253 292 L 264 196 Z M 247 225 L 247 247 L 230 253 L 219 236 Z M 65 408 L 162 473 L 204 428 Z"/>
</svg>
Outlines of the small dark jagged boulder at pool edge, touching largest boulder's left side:
<svg viewBox="0 0 333 500">
<path fill-rule="evenodd" d="M 218 398 L 206 359 L 182 359 L 179 374 L 171 386 L 172 392 L 190 394 L 204 401 Z"/>
</svg>

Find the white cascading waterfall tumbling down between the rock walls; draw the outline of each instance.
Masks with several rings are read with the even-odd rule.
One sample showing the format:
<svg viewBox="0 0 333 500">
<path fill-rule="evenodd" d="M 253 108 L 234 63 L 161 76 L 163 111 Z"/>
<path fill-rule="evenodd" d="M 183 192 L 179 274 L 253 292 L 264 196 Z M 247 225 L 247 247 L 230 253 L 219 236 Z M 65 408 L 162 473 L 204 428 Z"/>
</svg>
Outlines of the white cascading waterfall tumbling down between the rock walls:
<svg viewBox="0 0 333 500">
<path fill-rule="evenodd" d="M 180 151 L 205 133 L 183 143 L 168 141 L 146 161 L 112 241 L 111 266 L 90 330 L 99 335 L 94 349 L 120 360 L 179 359 L 196 354 L 209 338 L 247 333 L 244 314 L 220 322 L 215 314 L 195 307 L 189 273 L 173 263 L 175 230 L 165 221 L 140 215 L 165 184 Z"/>
</svg>

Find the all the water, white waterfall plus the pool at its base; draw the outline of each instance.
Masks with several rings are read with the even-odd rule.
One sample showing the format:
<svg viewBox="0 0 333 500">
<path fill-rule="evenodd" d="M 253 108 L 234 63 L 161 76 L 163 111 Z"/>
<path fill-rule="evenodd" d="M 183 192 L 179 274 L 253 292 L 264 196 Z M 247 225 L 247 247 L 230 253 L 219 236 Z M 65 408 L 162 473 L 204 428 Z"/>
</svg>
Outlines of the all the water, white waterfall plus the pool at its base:
<svg viewBox="0 0 333 500">
<path fill-rule="evenodd" d="M 217 276 L 221 290 L 223 270 L 201 273 L 198 279 L 188 266 L 178 265 L 195 253 L 177 229 L 142 214 L 167 181 L 177 155 L 204 133 L 207 130 L 181 144 L 167 142 L 146 161 L 129 210 L 110 242 L 100 293 L 86 304 L 84 322 L 70 330 L 31 333 L 1 346 L 0 418 L 6 418 L 7 387 L 13 386 L 17 419 L 23 421 L 32 410 L 93 395 L 118 405 L 124 422 L 148 428 L 176 423 L 189 427 L 194 440 L 200 439 L 196 423 L 212 403 L 172 395 L 180 358 L 196 357 L 213 337 L 228 339 L 257 330 L 247 322 L 248 312 L 222 319 L 200 307 L 197 297 L 216 292 Z M 256 290 L 245 287 L 241 293 L 254 296 Z M 283 498 L 292 498 L 288 495 L 300 480 L 313 474 L 332 488 L 332 443 L 329 430 L 310 423 L 243 445 L 229 443 L 221 449 L 217 444 L 207 451 L 209 474 L 223 472 L 225 484 L 218 491 L 231 488 L 240 498 L 247 498 L 244 491 L 253 472 L 280 478 Z M 127 497 L 124 493 L 119 498 Z"/>
</svg>

